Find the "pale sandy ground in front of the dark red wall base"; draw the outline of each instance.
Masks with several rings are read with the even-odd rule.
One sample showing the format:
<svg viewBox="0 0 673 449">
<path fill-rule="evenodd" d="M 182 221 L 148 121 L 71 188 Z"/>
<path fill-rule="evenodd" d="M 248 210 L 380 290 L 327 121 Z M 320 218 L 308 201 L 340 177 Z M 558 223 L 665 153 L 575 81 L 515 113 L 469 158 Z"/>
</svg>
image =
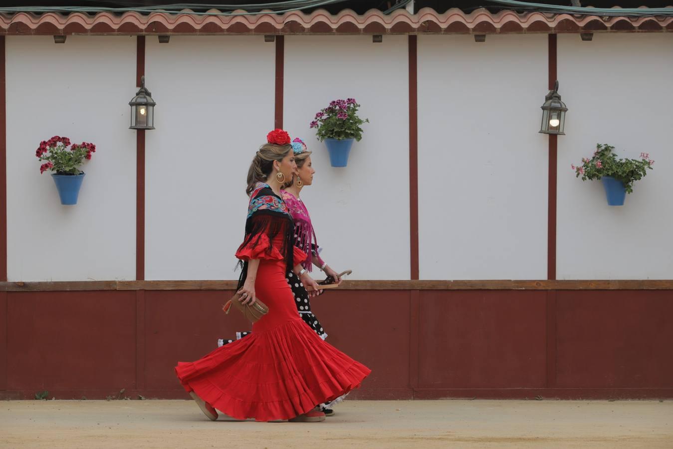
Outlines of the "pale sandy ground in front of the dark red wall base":
<svg viewBox="0 0 673 449">
<path fill-rule="evenodd" d="M 346 401 L 321 423 L 192 401 L 4 401 L 3 448 L 673 448 L 673 401 Z"/>
</svg>

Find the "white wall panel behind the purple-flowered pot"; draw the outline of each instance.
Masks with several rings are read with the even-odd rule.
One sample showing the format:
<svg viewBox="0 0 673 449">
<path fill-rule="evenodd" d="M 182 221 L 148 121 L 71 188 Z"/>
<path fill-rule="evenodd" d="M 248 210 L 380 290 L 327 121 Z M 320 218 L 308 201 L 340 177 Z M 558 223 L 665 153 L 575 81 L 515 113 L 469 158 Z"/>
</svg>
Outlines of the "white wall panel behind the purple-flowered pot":
<svg viewBox="0 0 673 449">
<path fill-rule="evenodd" d="M 314 151 L 302 199 L 324 260 L 351 279 L 409 279 L 409 47 L 407 36 L 287 36 L 284 126 Z M 363 139 L 332 168 L 308 125 L 337 98 L 362 105 Z M 316 274 L 316 277 L 318 274 Z"/>
</svg>

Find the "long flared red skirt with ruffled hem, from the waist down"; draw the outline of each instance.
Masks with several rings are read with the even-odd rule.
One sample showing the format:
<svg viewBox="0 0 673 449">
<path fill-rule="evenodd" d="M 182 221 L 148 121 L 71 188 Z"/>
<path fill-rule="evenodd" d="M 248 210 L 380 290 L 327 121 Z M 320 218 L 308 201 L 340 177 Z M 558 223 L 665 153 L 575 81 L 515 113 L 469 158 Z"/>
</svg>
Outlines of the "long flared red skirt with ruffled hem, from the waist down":
<svg viewBox="0 0 673 449">
<path fill-rule="evenodd" d="M 255 285 L 269 314 L 252 334 L 175 368 L 186 391 L 236 419 L 290 419 L 357 388 L 371 372 L 297 316 L 284 267 L 269 265 L 260 263 Z"/>
</svg>

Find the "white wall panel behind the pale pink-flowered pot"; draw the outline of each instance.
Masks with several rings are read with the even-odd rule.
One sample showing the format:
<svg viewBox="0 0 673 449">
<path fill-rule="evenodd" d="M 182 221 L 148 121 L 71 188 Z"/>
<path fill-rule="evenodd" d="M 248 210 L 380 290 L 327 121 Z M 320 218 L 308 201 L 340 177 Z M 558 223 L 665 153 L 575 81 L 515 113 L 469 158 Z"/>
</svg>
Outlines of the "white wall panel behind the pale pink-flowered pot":
<svg viewBox="0 0 673 449">
<path fill-rule="evenodd" d="M 558 279 L 671 279 L 673 155 L 670 34 L 575 35 L 558 41 L 559 92 L 569 110 L 559 137 Z M 575 178 L 571 164 L 596 143 L 655 160 L 625 205 L 608 206 L 600 181 Z"/>
</svg>

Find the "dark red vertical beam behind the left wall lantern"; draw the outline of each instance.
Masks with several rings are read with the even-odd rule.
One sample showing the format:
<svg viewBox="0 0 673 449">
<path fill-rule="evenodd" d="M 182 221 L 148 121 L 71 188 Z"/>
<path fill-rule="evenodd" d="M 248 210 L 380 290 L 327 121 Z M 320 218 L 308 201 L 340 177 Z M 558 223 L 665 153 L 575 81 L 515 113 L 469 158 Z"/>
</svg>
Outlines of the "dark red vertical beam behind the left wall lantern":
<svg viewBox="0 0 673 449">
<path fill-rule="evenodd" d="M 145 36 L 138 36 L 135 85 L 145 75 Z M 145 130 L 136 130 L 135 163 L 135 279 L 145 280 Z"/>
</svg>

